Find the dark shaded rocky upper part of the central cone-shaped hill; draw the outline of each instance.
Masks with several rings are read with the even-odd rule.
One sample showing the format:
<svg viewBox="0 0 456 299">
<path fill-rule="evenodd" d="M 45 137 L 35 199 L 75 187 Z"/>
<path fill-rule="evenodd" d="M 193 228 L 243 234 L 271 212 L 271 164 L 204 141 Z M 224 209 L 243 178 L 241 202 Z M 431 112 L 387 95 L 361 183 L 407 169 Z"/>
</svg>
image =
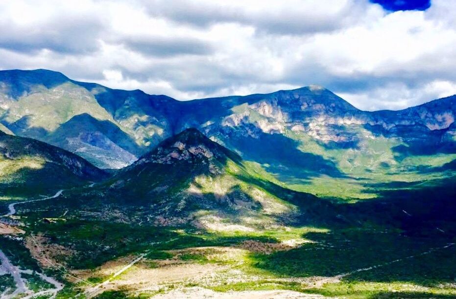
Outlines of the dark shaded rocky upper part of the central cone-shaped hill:
<svg viewBox="0 0 456 299">
<path fill-rule="evenodd" d="M 149 192 L 151 186 L 168 186 L 170 181 L 187 184 L 199 175 L 225 173 L 228 163 L 240 165 L 241 158 L 197 129 L 188 128 L 164 140 L 121 171 L 117 177 L 120 183 L 115 188 Z M 135 177 L 135 181 L 130 181 L 130 177 Z"/>
</svg>

